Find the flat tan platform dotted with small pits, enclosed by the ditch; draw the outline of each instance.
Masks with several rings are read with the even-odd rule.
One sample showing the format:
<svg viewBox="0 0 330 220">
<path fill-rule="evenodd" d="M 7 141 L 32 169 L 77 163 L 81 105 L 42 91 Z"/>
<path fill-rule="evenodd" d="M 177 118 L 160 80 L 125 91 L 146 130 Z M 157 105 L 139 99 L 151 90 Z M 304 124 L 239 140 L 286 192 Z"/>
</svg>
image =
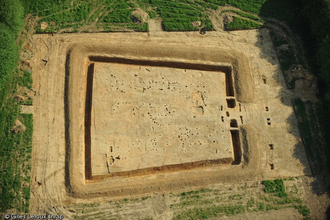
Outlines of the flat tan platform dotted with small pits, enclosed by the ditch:
<svg viewBox="0 0 330 220">
<path fill-rule="evenodd" d="M 233 158 L 225 73 L 93 65 L 92 176 Z"/>
</svg>

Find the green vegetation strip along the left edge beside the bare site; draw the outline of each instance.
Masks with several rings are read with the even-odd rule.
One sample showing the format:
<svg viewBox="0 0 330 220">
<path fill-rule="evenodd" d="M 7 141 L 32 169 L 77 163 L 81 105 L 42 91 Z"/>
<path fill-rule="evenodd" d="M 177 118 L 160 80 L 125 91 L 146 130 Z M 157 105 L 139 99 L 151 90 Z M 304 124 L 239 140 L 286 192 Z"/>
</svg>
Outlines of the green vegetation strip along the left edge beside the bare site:
<svg viewBox="0 0 330 220">
<path fill-rule="evenodd" d="M 0 212 L 16 209 L 29 211 L 30 163 L 33 117 L 20 114 L 19 105 L 11 94 L 16 84 L 28 85 L 29 75 L 20 77 L 17 70 L 20 46 L 16 44 L 24 24 L 24 8 L 18 0 L 0 2 Z M 29 73 L 30 74 L 30 73 Z M 31 74 L 30 74 L 31 75 Z M 26 131 L 10 130 L 18 119 Z"/>
</svg>

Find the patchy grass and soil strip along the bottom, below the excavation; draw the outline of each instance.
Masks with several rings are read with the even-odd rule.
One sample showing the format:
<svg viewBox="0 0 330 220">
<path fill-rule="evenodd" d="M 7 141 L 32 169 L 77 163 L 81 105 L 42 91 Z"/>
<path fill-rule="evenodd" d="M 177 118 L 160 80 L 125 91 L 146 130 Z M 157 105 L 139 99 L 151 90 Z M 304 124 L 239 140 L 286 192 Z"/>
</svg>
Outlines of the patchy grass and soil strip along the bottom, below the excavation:
<svg viewBox="0 0 330 220">
<path fill-rule="evenodd" d="M 286 185 L 287 181 L 291 183 Z M 232 187 L 231 184 L 233 191 L 228 190 L 228 187 L 219 186 L 216 189 L 200 189 L 149 196 L 151 201 L 145 201 L 144 197 L 122 199 L 111 201 L 108 206 L 111 208 L 113 219 L 121 218 L 123 213 L 132 211 L 132 207 L 137 207 L 136 217 L 150 219 L 146 209 L 147 207 L 153 209 L 154 206 L 150 207 L 146 204 L 150 204 L 155 200 L 162 201 L 162 204 L 169 204 L 169 208 L 174 214 L 174 220 L 202 220 L 225 215 L 233 216 L 287 208 L 295 208 L 301 215 L 308 218 L 308 207 L 297 197 L 301 189 L 301 186 L 297 187 L 297 185 L 301 185 L 301 180 L 291 178 L 289 180 L 264 181 L 264 185 L 255 187 L 246 184 L 234 184 L 234 187 Z M 95 219 L 96 216 L 106 215 L 103 212 L 103 207 L 104 205 L 93 203 L 76 204 L 72 208 L 76 212 L 75 219 Z M 141 210 L 138 207 L 141 207 Z"/>
</svg>

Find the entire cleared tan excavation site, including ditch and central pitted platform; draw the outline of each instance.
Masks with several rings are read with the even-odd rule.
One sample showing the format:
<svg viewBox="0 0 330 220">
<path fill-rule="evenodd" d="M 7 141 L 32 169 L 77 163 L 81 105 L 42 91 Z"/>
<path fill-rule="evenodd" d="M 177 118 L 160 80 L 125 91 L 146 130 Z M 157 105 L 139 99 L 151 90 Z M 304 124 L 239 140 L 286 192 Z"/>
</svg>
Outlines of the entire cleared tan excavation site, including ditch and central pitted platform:
<svg viewBox="0 0 330 220">
<path fill-rule="evenodd" d="M 266 29 L 35 35 L 33 50 L 33 214 L 311 175 Z"/>
</svg>

